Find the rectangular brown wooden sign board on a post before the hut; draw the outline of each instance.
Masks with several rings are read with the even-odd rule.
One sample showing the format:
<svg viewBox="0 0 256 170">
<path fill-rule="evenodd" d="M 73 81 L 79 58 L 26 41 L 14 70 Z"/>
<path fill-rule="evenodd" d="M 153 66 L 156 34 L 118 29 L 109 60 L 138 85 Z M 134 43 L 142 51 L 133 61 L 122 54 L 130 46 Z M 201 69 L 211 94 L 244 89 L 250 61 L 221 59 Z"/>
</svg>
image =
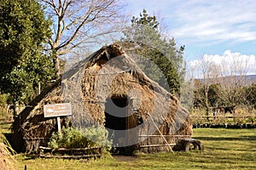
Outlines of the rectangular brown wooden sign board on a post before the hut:
<svg viewBox="0 0 256 170">
<path fill-rule="evenodd" d="M 71 103 L 44 105 L 44 117 L 71 116 Z"/>
</svg>

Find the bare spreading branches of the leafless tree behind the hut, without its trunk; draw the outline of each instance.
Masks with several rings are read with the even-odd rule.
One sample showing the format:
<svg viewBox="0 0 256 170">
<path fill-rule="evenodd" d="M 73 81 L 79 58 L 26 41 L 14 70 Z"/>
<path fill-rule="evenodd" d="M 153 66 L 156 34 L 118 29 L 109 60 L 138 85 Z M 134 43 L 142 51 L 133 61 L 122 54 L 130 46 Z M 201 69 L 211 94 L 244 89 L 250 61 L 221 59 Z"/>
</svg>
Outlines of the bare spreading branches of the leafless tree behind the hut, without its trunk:
<svg viewBox="0 0 256 170">
<path fill-rule="evenodd" d="M 53 47 L 55 50 L 61 50 L 61 48 L 75 48 L 77 45 L 72 45 L 73 41 L 77 41 L 80 38 L 81 33 L 86 30 L 87 27 L 106 25 L 111 21 L 117 19 L 120 7 L 117 5 L 117 0 L 42 0 L 52 9 L 52 13 L 55 13 L 57 20 L 55 20 L 55 38 Z M 105 31 L 99 36 L 108 34 L 110 31 Z M 86 31 L 87 36 L 90 35 L 89 31 Z M 95 33 L 95 32 L 93 32 Z M 86 39 L 86 38 L 84 38 Z M 84 40 L 76 42 L 75 44 L 83 43 Z M 67 51 L 67 50 L 65 50 Z M 62 54 L 62 53 L 61 53 Z"/>
</svg>

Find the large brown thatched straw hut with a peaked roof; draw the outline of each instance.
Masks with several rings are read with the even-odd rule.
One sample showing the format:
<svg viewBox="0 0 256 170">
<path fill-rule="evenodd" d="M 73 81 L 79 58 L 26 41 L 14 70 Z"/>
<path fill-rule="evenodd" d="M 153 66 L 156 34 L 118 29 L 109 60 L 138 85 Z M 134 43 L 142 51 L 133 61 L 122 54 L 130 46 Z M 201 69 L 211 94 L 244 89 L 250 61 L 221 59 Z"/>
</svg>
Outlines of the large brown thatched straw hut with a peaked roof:
<svg viewBox="0 0 256 170">
<path fill-rule="evenodd" d="M 150 80 L 119 45 L 103 47 L 66 71 L 26 106 L 13 124 L 14 146 L 35 151 L 57 130 L 45 104 L 71 102 L 73 116 L 61 126 L 104 126 L 124 153 L 172 150 L 177 136 L 191 135 L 188 111 Z"/>
</svg>

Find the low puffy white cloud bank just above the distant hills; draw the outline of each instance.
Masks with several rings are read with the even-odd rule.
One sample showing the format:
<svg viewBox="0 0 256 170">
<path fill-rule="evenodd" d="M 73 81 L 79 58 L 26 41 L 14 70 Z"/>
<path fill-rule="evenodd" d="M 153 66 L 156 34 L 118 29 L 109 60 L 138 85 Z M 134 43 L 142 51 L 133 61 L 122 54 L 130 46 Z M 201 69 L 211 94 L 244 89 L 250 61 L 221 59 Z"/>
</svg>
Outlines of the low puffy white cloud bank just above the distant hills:
<svg viewBox="0 0 256 170">
<path fill-rule="evenodd" d="M 256 59 L 253 54 L 233 53 L 204 54 L 201 59 L 189 61 L 189 71 L 193 77 L 203 77 L 203 71 L 218 77 L 231 75 L 256 75 Z"/>
</svg>

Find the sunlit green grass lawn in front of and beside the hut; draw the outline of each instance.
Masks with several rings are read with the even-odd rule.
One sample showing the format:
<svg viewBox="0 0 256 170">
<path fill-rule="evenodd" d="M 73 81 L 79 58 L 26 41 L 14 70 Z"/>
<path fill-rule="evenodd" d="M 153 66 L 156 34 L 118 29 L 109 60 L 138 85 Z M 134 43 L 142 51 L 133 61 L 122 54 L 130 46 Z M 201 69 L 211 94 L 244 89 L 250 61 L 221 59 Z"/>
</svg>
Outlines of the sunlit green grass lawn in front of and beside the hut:
<svg viewBox="0 0 256 170">
<path fill-rule="evenodd" d="M 130 161 L 104 156 L 96 161 L 32 159 L 17 155 L 17 169 L 256 169 L 256 129 L 197 128 L 204 151 L 137 154 Z"/>
</svg>

